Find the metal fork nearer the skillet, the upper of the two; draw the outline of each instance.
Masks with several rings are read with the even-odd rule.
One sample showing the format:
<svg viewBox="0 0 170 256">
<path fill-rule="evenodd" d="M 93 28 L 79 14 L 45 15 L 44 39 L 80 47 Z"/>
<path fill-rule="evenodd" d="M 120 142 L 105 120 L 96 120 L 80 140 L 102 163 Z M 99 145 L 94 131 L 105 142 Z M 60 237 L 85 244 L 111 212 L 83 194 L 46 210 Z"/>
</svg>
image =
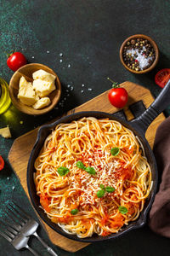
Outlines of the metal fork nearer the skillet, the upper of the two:
<svg viewBox="0 0 170 256">
<path fill-rule="evenodd" d="M 10 206 L 12 210 L 8 206 Z M 20 232 L 23 236 L 36 236 L 37 239 L 42 243 L 43 247 L 47 249 L 49 254 L 53 256 L 58 256 L 58 254 L 55 253 L 51 247 L 48 247 L 48 244 L 43 241 L 40 236 L 37 235 L 37 227 L 39 225 L 37 221 L 31 218 L 23 209 L 21 209 L 16 203 L 14 203 L 14 201 L 13 204 L 9 202 L 8 206 L 7 208 L 10 214 L 8 212 L 6 212 L 6 214 L 9 218 L 13 220 L 13 228 Z M 18 220 L 18 222 L 16 220 Z"/>
</svg>

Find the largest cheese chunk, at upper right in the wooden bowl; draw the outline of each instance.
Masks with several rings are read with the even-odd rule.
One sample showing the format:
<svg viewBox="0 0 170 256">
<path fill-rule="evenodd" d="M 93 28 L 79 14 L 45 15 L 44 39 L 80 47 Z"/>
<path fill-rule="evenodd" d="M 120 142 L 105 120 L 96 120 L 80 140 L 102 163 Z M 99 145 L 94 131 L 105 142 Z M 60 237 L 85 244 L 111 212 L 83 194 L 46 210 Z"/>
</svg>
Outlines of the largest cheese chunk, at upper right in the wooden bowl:
<svg viewBox="0 0 170 256">
<path fill-rule="evenodd" d="M 52 82 L 37 79 L 33 81 L 33 89 L 36 90 L 38 96 L 43 97 L 55 90 L 55 85 Z"/>
</svg>

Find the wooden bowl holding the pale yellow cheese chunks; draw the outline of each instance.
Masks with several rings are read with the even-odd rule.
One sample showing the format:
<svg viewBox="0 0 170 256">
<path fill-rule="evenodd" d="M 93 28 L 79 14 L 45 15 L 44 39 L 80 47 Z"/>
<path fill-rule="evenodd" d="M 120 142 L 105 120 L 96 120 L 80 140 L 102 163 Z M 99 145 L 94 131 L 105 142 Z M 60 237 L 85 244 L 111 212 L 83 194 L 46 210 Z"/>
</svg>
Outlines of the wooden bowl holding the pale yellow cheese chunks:
<svg viewBox="0 0 170 256">
<path fill-rule="evenodd" d="M 43 69 L 44 71 L 53 74 L 56 79 L 55 79 L 55 86 L 56 90 L 52 91 L 48 97 L 51 100 L 51 103 L 42 109 L 34 109 L 30 106 L 26 106 L 20 100 L 18 99 L 17 95 L 19 93 L 19 83 L 20 83 L 20 78 L 23 76 L 28 82 L 32 82 L 32 73 L 35 71 Z M 61 94 L 61 84 L 59 81 L 59 78 L 54 71 L 42 64 L 39 63 L 31 63 L 31 64 L 26 64 L 23 67 L 20 67 L 12 76 L 9 82 L 9 95 L 11 97 L 11 100 L 14 104 L 14 107 L 18 108 L 21 112 L 31 114 L 31 115 L 39 115 L 43 113 L 48 113 L 54 106 L 59 102 L 59 97 Z"/>
</svg>

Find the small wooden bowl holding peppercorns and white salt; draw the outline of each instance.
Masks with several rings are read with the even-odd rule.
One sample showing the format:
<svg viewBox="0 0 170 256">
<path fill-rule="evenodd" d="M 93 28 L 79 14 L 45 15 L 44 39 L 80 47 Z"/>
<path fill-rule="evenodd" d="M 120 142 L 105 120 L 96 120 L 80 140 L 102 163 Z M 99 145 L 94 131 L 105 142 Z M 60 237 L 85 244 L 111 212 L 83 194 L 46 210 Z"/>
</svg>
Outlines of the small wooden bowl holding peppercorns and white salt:
<svg viewBox="0 0 170 256">
<path fill-rule="evenodd" d="M 129 67 L 127 67 L 126 63 L 123 61 L 123 57 L 122 57 L 122 53 L 123 53 L 123 49 L 125 47 L 125 45 L 127 44 L 128 41 L 132 40 L 132 39 L 137 39 L 137 38 L 142 38 L 142 39 L 145 39 L 145 40 L 148 40 L 150 42 L 150 44 L 152 45 L 152 47 L 155 49 L 155 53 L 156 53 L 156 59 L 155 61 L 153 61 L 153 63 L 151 64 L 150 67 L 148 67 L 147 69 L 144 69 L 144 70 L 141 70 L 141 71 L 136 71 L 136 70 L 133 70 Z M 120 59 L 121 59 L 121 62 L 122 62 L 122 65 L 127 68 L 128 71 L 132 72 L 132 73 L 148 73 L 150 72 L 150 70 L 152 70 L 154 67 L 156 67 L 156 64 L 157 64 L 157 61 L 159 59 L 159 49 L 157 47 L 157 44 L 156 42 L 148 37 L 148 36 L 145 36 L 145 35 L 142 35 L 142 34 L 137 34 L 137 35 L 133 35 L 129 38 L 127 38 L 123 43 L 122 43 L 122 46 L 121 46 L 121 49 L 120 49 Z"/>
</svg>

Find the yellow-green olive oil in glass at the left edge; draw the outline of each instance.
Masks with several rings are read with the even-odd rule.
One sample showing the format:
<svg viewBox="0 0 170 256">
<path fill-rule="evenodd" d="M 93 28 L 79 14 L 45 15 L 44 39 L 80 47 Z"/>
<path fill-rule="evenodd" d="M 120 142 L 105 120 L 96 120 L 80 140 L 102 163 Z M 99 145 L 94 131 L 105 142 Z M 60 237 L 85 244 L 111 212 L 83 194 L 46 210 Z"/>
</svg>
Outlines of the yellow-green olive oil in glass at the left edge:
<svg viewBox="0 0 170 256">
<path fill-rule="evenodd" d="M 10 106 L 11 99 L 8 93 L 8 84 L 0 78 L 0 114 L 4 113 Z"/>
</svg>

